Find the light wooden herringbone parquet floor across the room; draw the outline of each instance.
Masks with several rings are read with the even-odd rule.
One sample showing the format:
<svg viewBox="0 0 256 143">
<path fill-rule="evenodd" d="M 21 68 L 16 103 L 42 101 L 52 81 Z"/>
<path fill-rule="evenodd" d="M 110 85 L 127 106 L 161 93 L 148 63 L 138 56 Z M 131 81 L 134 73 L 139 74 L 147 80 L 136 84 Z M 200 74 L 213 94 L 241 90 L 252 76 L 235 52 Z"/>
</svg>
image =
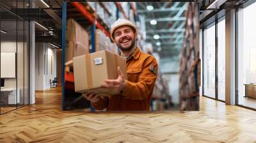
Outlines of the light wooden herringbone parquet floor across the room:
<svg viewBox="0 0 256 143">
<path fill-rule="evenodd" d="M 256 112 L 200 98 L 199 112 L 61 111 L 61 88 L 0 116 L 0 142 L 256 142 Z"/>
</svg>

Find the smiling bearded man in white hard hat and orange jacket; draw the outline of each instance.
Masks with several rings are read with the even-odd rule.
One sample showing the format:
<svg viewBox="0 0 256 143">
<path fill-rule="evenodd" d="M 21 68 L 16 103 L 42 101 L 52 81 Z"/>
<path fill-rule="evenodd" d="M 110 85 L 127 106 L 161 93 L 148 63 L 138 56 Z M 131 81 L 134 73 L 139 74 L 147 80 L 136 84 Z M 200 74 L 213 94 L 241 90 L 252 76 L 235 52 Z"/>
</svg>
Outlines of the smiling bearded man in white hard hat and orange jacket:
<svg viewBox="0 0 256 143">
<path fill-rule="evenodd" d="M 111 26 L 111 39 L 120 49 L 120 56 L 126 58 L 127 79 L 118 67 L 118 79 L 107 79 L 102 87 L 120 91 L 120 94 L 100 98 L 95 93 L 83 93 L 95 109 L 149 110 L 157 62 L 136 47 L 137 32 L 136 26 L 126 19 L 118 19 Z"/>
</svg>

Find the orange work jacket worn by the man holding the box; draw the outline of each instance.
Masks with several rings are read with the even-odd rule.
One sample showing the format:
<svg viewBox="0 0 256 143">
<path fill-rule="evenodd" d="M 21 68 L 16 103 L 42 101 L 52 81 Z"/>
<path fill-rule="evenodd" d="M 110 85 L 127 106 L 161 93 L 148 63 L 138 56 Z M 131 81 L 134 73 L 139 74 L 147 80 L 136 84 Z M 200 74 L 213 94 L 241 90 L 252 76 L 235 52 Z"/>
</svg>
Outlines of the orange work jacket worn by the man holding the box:
<svg viewBox="0 0 256 143">
<path fill-rule="evenodd" d="M 92 103 L 97 110 L 149 110 L 150 98 L 157 78 L 157 61 L 138 47 L 127 58 L 127 84 L 121 94 L 101 98 Z"/>
</svg>

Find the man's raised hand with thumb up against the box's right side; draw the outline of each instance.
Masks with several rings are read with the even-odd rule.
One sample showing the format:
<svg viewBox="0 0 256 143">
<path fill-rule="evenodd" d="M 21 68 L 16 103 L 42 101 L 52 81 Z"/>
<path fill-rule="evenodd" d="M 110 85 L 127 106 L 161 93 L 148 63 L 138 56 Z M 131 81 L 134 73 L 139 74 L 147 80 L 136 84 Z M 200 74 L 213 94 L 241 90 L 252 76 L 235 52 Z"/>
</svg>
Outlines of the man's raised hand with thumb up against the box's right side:
<svg viewBox="0 0 256 143">
<path fill-rule="evenodd" d="M 124 74 L 120 70 L 120 67 L 117 68 L 118 78 L 117 79 L 107 79 L 105 83 L 102 84 L 102 87 L 111 88 L 113 91 L 122 91 L 126 86 L 126 81 L 124 79 Z"/>
</svg>

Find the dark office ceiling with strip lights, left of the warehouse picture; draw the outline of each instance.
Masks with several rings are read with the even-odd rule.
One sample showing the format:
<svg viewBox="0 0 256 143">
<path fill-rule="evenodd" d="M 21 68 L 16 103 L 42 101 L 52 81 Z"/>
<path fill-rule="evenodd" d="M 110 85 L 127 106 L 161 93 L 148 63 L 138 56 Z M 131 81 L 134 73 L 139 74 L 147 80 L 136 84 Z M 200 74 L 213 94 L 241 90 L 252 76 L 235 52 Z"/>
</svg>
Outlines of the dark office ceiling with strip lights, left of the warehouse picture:
<svg viewBox="0 0 256 143">
<path fill-rule="evenodd" d="M 30 3 L 28 0 L 1 0 L 1 29 L 7 32 L 4 34 L 4 38 L 6 40 L 15 40 L 17 36 L 19 40 L 23 35 L 26 36 L 26 32 L 28 32 L 26 26 L 28 24 L 25 23 L 24 31 L 23 22 L 24 20 L 31 20 L 47 28 L 45 30 L 42 26 L 35 24 L 36 41 L 47 41 L 61 47 L 62 2 L 63 0 L 44 0 L 43 2 L 40 0 L 30 0 Z M 52 34 L 50 34 L 50 31 Z"/>
</svg>

